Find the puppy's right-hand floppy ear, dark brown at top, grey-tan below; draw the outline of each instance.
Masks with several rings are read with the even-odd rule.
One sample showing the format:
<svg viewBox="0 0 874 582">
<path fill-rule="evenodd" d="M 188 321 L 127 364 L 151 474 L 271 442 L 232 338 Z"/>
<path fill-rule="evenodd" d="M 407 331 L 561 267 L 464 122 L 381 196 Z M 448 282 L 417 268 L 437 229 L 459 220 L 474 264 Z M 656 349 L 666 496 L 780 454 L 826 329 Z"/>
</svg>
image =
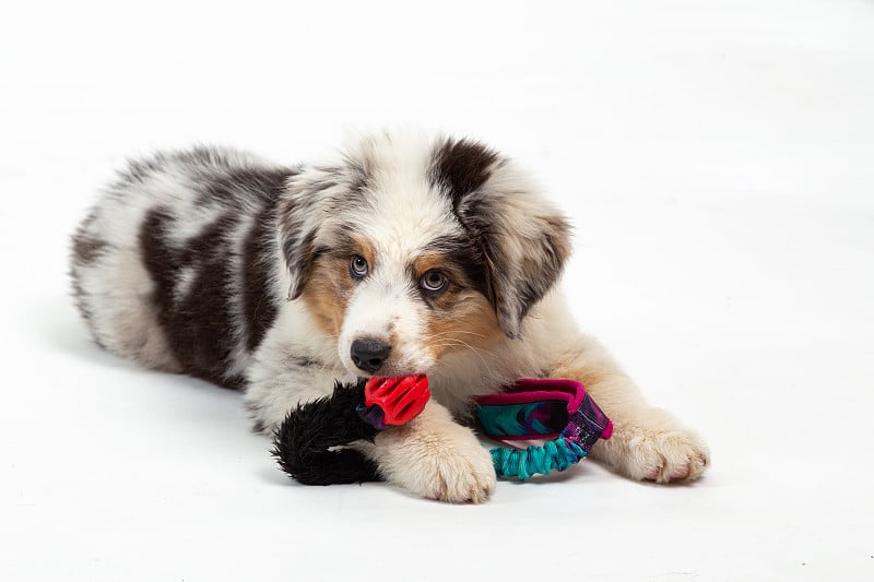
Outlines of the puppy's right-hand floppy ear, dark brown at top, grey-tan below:
<svg viewBox="0 0 874 582">
<path fill-rule="evenodd" d="M 509 159 L 475 142 L 438 145 L 432 179 L 482 257 L 501 329 L 517 337 L 570 254 L 567 219 Z"/>
</svg>

